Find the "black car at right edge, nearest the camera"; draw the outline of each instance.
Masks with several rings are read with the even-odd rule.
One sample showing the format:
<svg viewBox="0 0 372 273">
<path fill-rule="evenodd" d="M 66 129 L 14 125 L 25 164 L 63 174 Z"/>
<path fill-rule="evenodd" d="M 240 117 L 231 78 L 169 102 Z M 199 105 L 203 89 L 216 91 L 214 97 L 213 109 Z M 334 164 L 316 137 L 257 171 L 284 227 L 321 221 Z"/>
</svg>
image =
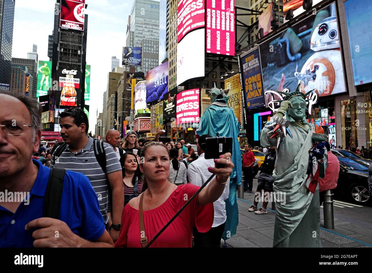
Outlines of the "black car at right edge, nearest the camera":
<svg viewBox="0 0 372 273">
<path fill-rule="evenodd" d="M 337 156 L 340 161 L 340 173 L 335 196 L 356 204 L 371 204 L 368 190 L 368 166 L 348 157 Z"/>
</svg>

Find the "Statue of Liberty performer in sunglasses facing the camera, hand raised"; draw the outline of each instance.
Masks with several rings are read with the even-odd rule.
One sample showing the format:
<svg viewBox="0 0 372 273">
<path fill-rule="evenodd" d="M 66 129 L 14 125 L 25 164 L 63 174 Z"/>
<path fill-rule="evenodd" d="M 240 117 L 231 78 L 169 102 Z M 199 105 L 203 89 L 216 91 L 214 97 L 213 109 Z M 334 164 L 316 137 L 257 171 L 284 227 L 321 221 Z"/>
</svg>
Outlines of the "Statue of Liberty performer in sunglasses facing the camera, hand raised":
<svg viewBox="0 0 372 273">
<path fill-rule="evenodd" d="M 280 108 L 260 134 L 262 146 L 276 146 L 273 247 L 321 247 L 318 179 L 328 166 L 326 135 L 322 127 L 307 123 L 307 95 L 312 91 L 304 94 L 299 86 L 280 92 L 285 96 Z"/>
</svg>

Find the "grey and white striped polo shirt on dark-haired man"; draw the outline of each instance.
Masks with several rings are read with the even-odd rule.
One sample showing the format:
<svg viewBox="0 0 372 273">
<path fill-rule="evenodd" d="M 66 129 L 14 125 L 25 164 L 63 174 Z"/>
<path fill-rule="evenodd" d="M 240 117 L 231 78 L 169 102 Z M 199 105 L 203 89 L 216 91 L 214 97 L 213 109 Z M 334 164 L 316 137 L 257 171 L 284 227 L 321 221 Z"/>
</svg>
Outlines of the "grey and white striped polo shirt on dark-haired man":
<svg viewBox="0 0 372 273">
<path fill-rule="evenodd" d="M 106 173 L 112 173 L 118 170 L 121 171 L 122 168 L 119 159 L 112 146 L 108 143 L 103 143 L 103 147 L 105 148 L 106 153 Z M 89 178 L 90 183 L 97 194 L 99 209 L 103 215 L 103 220 L 107 223 L 108 182 L 106 174 L 99 166 L 96 156 L 94 155 L 93 138 L 89 137 L 86 146 L 76 154 L 71 152 L 70 145 L 67 145 L 66 149 L 62 152 L 56 162 L 54 162 L 54 156 L 52 156 L 50 168 L 53 169 L 54 166 L 56 168 L 81 172 Z"/>
</svg>

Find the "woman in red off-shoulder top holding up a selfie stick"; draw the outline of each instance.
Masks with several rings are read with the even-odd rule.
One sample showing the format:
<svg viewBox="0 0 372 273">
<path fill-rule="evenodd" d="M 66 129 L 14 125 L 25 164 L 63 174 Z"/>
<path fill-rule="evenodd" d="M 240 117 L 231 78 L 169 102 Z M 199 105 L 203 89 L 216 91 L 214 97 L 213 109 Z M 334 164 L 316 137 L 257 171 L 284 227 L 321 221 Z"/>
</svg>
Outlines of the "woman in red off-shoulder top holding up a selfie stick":
<svg viewBox="0 0 372 273">
<path fill-rule="evenodd" d="M 207 232 L 214 220 L 213 202 L 216 201 L 225 188 L 234 164 L 226 153 L 215 162 L 225 164 L 225 168 L 208 168 L 217 176 L 210 185 L 203 188 L 199 195 L 182 211 L 182 213 L 154 241 L 151 247 L 191 247 L 192 229 Z M 121 218 L 121 230 L 115 247 L 142 247 L 139 224 L 138 204 L 143 199 L 143 218 L 147 241 L 167 224 L 177 211 L 200 187 L 193 184 L 176 186 L 169 183 L 169 153 L 166 146 L 150 142 L 142 148 L 140 164 L 144 173 L 144 181 L 148 188 L 137 198 L 131 199 L 124 207 Z"/>
</svg>

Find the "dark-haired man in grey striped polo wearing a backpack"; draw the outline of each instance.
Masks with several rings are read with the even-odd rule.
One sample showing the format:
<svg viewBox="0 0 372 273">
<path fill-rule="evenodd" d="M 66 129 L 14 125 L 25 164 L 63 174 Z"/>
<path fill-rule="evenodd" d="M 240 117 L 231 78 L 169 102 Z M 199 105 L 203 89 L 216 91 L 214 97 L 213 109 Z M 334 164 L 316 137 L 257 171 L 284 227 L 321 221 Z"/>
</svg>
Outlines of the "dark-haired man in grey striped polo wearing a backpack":
<svg viewBox="0 0 372 273">
<path fill-rule="evenodd" d="M 61 136 L 67 144 L 65 150 L 54 162 L 52 155 L 51 169 L 62 168 L 81 172 L 86 175 L 97 194 L 100 211 L 107 225 L 109 217 L 108 184 L 112 189 L 112 228 L 110 236 L 115 242 L 119 237 L 121 214 L 124 208 L 124 187 L 122 168 L 112 146 L 103 143 L 106 153 L 106 173 L 100 167 L 93 149 L 93 138 L 87 135 L 89 121 L 87 115 L 79 108 L 67 108 L 59 114 L 61 117 Z M 119 225 L 118 225 L 119 224 Z"/>
</svg>

